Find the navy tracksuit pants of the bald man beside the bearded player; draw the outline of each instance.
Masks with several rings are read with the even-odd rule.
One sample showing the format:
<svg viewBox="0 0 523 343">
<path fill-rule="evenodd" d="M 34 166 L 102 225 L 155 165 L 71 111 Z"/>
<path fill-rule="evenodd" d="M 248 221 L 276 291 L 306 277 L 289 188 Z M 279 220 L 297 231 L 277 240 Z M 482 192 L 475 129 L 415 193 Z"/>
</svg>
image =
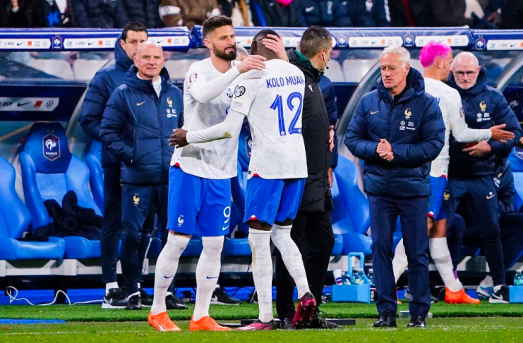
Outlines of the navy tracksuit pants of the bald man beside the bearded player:
<svg viewBox="0 0 523 343">
<path fill-rule="evenodd" d="M 121 270 L 124 274 L 126 296 L 138 291 L 144 258 L 140 255 L 144 248 L 140 241 L 143 241 L 146 219 L 156 210 L 158 229 L 162 233 L 167 230 L 168 191 L 167 185 L 140 186 L 124 183 L 121 187 Z"/>
</svg>

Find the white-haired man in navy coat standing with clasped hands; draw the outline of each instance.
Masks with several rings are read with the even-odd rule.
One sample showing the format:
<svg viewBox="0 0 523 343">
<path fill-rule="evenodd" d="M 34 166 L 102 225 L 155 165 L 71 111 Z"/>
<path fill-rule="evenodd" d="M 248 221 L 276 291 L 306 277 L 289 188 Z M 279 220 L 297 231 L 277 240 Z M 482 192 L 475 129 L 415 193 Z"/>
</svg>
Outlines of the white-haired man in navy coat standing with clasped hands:
<svg viewBox="0 0 523 343">
<path fill-rule="evenodd" d="M 352 154 L 365 161 L 363 187 L 369 199 L 372 262 L 380 295 L 375 327 L 396 326 L 392 233 L 398 215 L 412 289 L 409 327 L 424 327 L 431 306 L 426 254 L 429 172 L 443 148 L 445 125 L 438 102 L 425 92 L 421 73 L 409 69 L 409 59 L 402 47 L 385 49 L 378 89 L 362 98 L 345 138 Z"/>
</svg>

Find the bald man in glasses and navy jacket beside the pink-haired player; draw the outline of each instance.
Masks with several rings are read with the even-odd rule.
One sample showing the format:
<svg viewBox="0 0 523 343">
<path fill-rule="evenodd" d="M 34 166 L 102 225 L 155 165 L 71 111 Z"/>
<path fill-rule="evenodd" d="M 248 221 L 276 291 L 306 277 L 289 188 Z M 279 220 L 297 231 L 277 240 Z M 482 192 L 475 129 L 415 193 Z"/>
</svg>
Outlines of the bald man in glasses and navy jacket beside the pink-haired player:
<svg viewBox="0 0 523 343">
<path fill-rule="evenodd" d="M 494 284 L 489 299 L 493 303 L 508 302 L 508 288 L 503 272 L 503 251 L 498 224 L 500 212 L 493 175 L 505 163 L 510 150 L 521 137 L 517 117 L 503 94 L 487 85 L 486 68 L 479 66 L 474 54 L 457 54 L 452 64 L 449 85 L 462 97 L 465 121 L 470 128 L 490 128 L 506 124 L 505 130 L 515 133 L 506 143 L 493 140 L 464 145 L 450 138 L 449 196 L 443 201 L 448 222 L 456 212 L 459 200 L 467 197 L 483 239 L 483 248 Z M 467 196 L 468 195 L 468 196 Z"/>
</svg>

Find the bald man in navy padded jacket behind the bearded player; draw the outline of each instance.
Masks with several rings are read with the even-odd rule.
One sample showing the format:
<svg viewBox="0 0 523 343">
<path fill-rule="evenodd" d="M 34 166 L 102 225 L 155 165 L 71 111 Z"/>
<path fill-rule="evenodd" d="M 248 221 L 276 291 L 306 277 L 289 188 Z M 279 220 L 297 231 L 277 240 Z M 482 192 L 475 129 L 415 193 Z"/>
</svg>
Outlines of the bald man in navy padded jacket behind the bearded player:
<svg viewBox="0 0 523 343">
<path fill-rule="evenodd" d="M 138 245 L 145 218 L 157 208 L 158 227 L 167 226 L 167 184 L 173 148 L 169 135 L 184 123 L 181 91 L 163 68 L 162 48 L 153 42 L 138 46 L 136 66 L 124 85 L 112 93 L 102 119 L 100 137 L 121 160 L 121 265 L 129 309 L 141 307 Z"/>
</svg>

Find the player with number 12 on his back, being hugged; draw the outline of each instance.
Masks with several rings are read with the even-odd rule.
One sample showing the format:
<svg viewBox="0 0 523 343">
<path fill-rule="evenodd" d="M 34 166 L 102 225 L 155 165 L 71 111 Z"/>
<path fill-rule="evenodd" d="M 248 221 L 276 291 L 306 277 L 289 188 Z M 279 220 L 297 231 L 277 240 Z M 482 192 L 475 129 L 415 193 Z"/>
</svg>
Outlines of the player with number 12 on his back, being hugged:
<svg viewBox="0 0 523 343">
<path fill-rule="evenodd" d="M 253 278 L 260 313 L 255 323 L 238 330 L 275 328 L 271 239 L 282 253 L 282 260 L 298 288 L 300 300 L 293 327 L 308 325 L 316 307 L 301 253 L 291 239 L 292 221 L 298 212 L 308 176 L 301 136 L 304 76 L 299 68 L 278 59 L 274 52 L 263 47 L 267 35 L 275 35 L 275 32 L 258 32 L 251 47 L 251 54 L 267 57 L 265 69 L 250 71 L 234 81 L 234 97 L 227 119 L 202 131 L 175 130 L 176 143 L 184 146 L 222 138 L 234 138 L 232 140 L 236 142 L 245 117 L 251 126 L 253 147 L 244 222 L 250 227 L 248 239 L 253 251 Z"/>
</svg>

